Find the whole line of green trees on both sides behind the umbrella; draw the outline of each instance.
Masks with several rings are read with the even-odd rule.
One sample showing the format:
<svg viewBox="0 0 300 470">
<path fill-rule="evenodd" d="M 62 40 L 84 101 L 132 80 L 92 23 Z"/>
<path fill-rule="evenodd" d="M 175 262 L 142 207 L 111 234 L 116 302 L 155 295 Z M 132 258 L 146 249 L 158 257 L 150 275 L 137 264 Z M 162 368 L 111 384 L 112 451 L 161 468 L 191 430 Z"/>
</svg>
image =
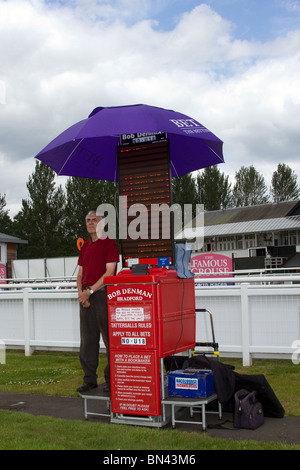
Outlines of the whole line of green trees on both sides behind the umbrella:
<svg viewBox="0 0 300 470">
<path fill-rule="evenodd" d="M 286 164 L 279 164 L 267 192 L 264 177 L 253 166 L 241 167 L 233 187 L 229 176 L 218 166 L 172 179 L 173 203 L 183 207 L 203 204 L 206 211 L 294 200 L 300 197 L 297 175 Z M 28 240 L 20 245 L 18 258 L 77 256 L 78 238 L 86 239 L 85 216 L 100 204 L 118 209 L 118 184 L 88 178 L 69 178 L 65 191 L 56 184 L 56 175 L 37 161 L 27 183 L 28 199 L 11 221 L 0 194 L 0 232 Z"/>
</svg>

